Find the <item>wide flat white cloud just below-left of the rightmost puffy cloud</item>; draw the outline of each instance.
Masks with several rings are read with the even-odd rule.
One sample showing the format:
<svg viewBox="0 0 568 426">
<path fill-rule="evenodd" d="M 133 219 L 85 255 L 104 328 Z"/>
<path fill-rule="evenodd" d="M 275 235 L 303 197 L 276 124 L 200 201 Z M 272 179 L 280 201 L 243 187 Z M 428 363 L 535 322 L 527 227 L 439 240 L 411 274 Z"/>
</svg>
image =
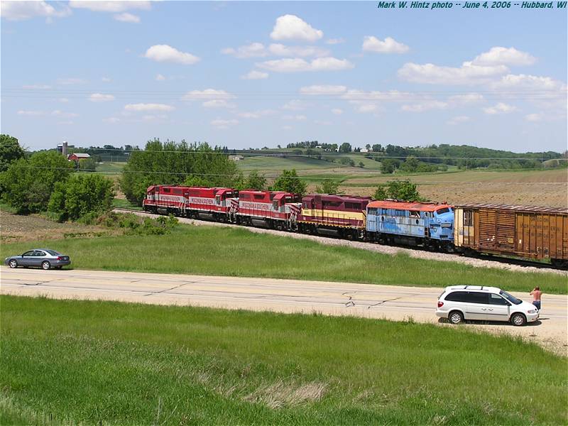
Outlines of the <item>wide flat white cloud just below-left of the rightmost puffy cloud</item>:
<svg viewBox="0 0 568 426">
<path fill-rule="evenodd" d="M 402 80 L 427 84 L 480 84 L 508 72 L 505 65 L 482 67 L 464 62 L 461 67 L 439 67 L 434 64 L 407 62 L 398 70 Z"/>
</svg>

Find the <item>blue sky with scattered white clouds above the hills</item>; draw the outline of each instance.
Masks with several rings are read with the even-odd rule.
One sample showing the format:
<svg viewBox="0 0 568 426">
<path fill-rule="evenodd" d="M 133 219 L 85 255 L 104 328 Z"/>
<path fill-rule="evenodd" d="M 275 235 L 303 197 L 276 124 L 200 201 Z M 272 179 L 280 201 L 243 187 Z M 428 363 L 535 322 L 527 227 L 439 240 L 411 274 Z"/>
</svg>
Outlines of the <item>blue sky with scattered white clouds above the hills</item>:
<svg viewBox="0 0 568 426">
<path fill-rule="evenodd" d="M 567 26 L 518 6 L 2 1 L 1 132 L 565 151 Z"/>
</svg>

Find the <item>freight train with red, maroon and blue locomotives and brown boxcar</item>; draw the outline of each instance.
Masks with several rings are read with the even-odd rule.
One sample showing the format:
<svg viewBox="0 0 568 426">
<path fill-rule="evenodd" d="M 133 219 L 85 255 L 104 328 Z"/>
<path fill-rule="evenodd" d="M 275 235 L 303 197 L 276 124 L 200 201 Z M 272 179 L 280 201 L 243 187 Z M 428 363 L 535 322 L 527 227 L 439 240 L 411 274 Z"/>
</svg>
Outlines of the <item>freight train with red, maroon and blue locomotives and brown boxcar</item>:
<svg viewBox="0 0 568 426">
<path fill-rule="evenodd" d="M 146 212 L 568 267 L 568 209 L 152 185 Z"/>
</svg>

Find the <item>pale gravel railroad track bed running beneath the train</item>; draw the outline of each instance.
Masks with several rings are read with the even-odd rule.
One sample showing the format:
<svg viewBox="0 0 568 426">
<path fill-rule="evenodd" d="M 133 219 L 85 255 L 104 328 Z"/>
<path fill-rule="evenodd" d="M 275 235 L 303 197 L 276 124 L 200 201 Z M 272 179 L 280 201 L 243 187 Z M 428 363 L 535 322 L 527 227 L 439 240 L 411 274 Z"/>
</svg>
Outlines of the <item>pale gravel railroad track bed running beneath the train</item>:
<svg viewBox="0 0 568 426">
<path fill-rule="evenodd" d="M 124 212 L 124 213 L 134 213 L 134 214 L 138 214 L 138 215 L 144 215 L 144 216 L 160 216 L 159 214 L 155 214 L 155 213 L 150 213 L 150 212 L 144 212 L 143 210 L 136 210 L 136 209 L 124 209 L 124 208 L 115 208 L 113 209 L 114 212 Z M 224 222 L 217 222 L 214 220 L 207 220 L 207 219 L 195 219 L 195 218 L 183 218 L 183 219 L 189 219 L 193 222 L 198 222 L 199 224 L 215 224 L 217 226 L 238 226 L 238 227 L 242 227 L 242 228 L 252 228 L 252 229 L 268 229 L 268 228 L 264 228 L 261 226 L 249 226 L 249 225 L 242 225 L 242 224 L 227 224 Z M 275 229 L 271 229 L 271 231 L 275 231 L 278 233 L 283 233 L 283 234 L 290 234 L 287 231 L 279 231 L 279 230 L 275 230 Z M 318 235 L 316 237 L 320 237 L 322 239 L 337 239 L 337 240 L 342 240 L 342 241 L 346 241 L 345 239 L 342 239 L 339 236 L 334 236 L 334 235 Z M 361 244 L 368 244 L 369 246 L 376 246 L 377 244 L 373 244 L 373 243 L 369 243 L 366 241 L 357 241 Z M 409 251 L 413 251 L 413 252 L 417 252 L 417 253 L 438 253 L 438 252 L 433 252 L 430 251 L 429 249 L 425 249 L 422 247 L 409 247 L 409 246 L 396 246 L 396 245 L 386 245 L 386 244 L 381 244 L 381 246 L 385 246 L 385 247 L 396 247 L 396 248 L 400 248 L 400 249 L 405 249 L 405 250 L 409 250 Z M 496 263 L 504 263 L 504 264 L 508 264 L 508 265 L 515 265 L 515 266 L 521 266 L 521 267 L 530 267 L 530 268 L 537 268 L 537 269 L 549 269 L 549 270 L 553 270 L 553 271 L 566 271 L 566 268 L 556 268 L 555 266 L 552 266 L 550 263 L 542 263 L 542 262 L 537 262 L 537 261 L 528 261 L 525 259 L 520 259 L 520 258 L 506 258 L 506 257 L 502 257 L 502 256 L 495 256 L 495 255 L 491 255 L 491 254 L 480 254 L 479 256 L 468 256 L 465 257 L 463 255 L 461 255 L 460 253 L 439 253 L 439 254 L 444 254 L 446 256 L 455 256 L 456 258 L 471 258 L 471 259 L 480 259 L 483 261 L 489 261 L 489 262 L 496 262 Z M 433 260 L 437 260 L 437 259 L 433 259 Z M 448 259 L 445 259 L 448 260 Z"/>
</svg>

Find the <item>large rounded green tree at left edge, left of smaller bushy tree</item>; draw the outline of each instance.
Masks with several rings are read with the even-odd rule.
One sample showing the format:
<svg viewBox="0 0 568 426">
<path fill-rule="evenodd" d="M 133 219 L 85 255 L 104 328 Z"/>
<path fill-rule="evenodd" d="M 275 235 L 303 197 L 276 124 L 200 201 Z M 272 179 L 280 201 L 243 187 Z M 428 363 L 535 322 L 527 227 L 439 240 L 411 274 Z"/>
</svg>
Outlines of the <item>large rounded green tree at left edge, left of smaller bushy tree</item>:
<svg viewBox="0 0 568 426">
<path fill-rule="evenodd" d="M 55 151 L 20 158 L 1 175 L 2 198 L 18 214 L 43 212 L 55 184 L 65 182 L 72 169 L 72 162 Z"/>
</svg>

